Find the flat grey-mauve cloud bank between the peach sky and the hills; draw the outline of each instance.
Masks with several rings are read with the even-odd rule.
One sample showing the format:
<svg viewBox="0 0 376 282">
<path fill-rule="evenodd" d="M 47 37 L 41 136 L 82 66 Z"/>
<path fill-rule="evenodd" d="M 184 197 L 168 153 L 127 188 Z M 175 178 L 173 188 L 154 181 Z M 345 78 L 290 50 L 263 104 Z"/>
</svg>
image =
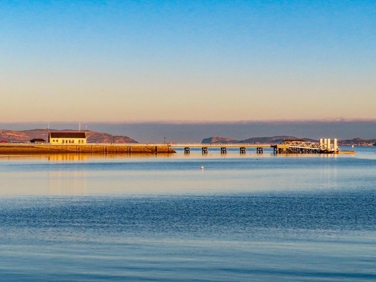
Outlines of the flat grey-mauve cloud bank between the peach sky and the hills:
<svg viewBox="0 0 376 282">
<path fill-rule="evenodd" d="M 376 120 L 280 120 L 280 121 L 237 121 L 237 122 L 167 122 L 143 121 L 126 123 L 86 123 L 81 129 L 110 134 L 126 135 L 139 142 L 201 142 L 203 138 L 224 136 L 242 140 L 251 137 L 291 135 L 299 138 L 376 138 Z M 48 122 L 3 123 L 0 129 L 29 130 L 47 128 Z M 77 129 L 78 123 L 50 122 L 51 129 Z"/>
</svg>

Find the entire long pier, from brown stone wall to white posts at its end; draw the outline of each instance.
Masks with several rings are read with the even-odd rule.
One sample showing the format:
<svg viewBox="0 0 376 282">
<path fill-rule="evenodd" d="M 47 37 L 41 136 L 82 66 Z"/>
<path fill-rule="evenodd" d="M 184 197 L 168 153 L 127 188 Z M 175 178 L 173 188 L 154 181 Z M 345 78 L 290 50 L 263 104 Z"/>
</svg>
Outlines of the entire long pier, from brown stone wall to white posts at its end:
<svg viewBox="0 0 376 282">
<path fill-rule="evenodd" d="M 50 143 L 1 143 L 0 153 L 176 153 L 174 148 L 184 148 L 189 154 L 191 148 L 201 148 L 203 154 L 208 154 L 209 148 L 220 148 L 221 154 L 227 153 L 227 148 L 239 148 L 240 154 L 246 154 L 247 149 L 256 149 L 257 154 L 264 153 L 264 148 L 273 148 L 274 154 L 338 154 L 355 153 L 341 152 L 337 139 L 320 139 L 319 143 L 304 140 L 285 140 L 284 143 L 86 143 L 56 145 Z"/>
</svg>

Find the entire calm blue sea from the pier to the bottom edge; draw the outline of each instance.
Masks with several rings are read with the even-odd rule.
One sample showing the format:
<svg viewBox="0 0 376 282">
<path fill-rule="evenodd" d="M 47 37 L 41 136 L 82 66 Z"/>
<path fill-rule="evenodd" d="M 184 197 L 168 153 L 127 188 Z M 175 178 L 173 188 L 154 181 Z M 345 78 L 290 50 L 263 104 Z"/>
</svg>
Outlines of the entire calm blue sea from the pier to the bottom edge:
<svg viewBox="0 0 376 282">
<path fill-rule="evenodd" d="M 376 280 L 376 147 L 355 149 L 0 156 L 0 280 Z"/>
</svg>

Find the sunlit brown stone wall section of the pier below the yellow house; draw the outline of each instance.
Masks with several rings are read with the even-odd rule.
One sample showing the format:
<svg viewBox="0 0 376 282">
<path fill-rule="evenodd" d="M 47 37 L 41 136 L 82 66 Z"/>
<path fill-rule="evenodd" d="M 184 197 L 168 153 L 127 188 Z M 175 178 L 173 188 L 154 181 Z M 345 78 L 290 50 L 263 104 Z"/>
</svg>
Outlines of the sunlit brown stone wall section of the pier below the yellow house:
<svg viewBox="0 0 376 282">
<path fill-rule="evenodd" d="M 0 144 L 0 154 L 20 153 L 176 153 L 165 144 Z"/>
</svg>

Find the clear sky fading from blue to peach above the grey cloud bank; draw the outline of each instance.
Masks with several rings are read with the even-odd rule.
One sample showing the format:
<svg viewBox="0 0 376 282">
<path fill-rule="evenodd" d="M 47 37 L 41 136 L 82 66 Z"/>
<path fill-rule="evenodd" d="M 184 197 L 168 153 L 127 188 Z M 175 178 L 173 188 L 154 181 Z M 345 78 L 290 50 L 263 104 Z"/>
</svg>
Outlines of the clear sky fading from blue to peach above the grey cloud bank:
<svg viewBox="0 0 376 282">
<path fill-rule="evenodd" d="M 0 1 L 0 121 L 376 118 L 376 1 Z"/>
</svg>

